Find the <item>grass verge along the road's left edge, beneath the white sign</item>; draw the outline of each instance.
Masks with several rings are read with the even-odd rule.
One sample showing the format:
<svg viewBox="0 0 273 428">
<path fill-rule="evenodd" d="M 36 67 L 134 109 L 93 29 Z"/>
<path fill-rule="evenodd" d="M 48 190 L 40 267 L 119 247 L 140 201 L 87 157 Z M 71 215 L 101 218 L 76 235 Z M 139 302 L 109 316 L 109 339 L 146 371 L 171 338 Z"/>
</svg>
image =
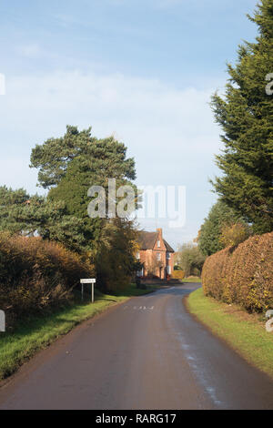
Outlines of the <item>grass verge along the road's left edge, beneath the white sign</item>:
<svg viewBox="0 0 273 428">
<path fill-rule="evenodd" d="M 147 287 L 147 290 L 139 290 L 135 284 L 130 284 L 118 295 L 96 292 L 93 304 L 89 301 L 81 302 L 76 297 L 76 304 L 73 306 L 50 312 L 46 316 L 32 316 L 28 320 L 21 321 L 13 332 L 0 333 L 0 380 L 13 374 L 25 361 L 34 356 L 35 352 L 45 349 L 80 322 L 94 317 L 113 304 L 126 301 L 133 296 L 147 294 L 154 289 L 155 287 Z"/>
</svg>

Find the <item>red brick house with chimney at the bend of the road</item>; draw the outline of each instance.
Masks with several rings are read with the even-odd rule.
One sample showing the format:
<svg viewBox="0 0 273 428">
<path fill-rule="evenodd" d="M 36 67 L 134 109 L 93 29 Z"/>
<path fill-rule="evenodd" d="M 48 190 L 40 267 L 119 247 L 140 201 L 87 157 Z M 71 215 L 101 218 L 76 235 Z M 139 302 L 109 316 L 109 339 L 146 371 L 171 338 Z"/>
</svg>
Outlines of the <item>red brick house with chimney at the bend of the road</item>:
<svg viewBox="0 0 273 428">
<path fill-rule="evenodd" d="M 157 229 L 156 232 L 141 231 L 138 246 L 136 259 L 144 263 L 144 268 L 138 272 L 138 276 L 166 280 L 172 275 L 175 251 L 163 239 L 162 229 Z"/>
</svg>

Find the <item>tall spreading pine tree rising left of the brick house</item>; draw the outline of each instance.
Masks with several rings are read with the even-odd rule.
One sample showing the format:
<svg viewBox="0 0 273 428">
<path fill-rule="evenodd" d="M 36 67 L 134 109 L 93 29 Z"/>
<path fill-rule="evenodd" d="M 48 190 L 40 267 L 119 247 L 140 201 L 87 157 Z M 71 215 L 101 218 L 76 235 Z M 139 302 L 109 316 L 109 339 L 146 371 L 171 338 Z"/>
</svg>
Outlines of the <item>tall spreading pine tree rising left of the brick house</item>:
<svg viewBox="0 0 273 428">
<path fill-rule="evenodd" d="M 108 178 L 116 178 L 116 187 L 136 186 L 135 160 L 126 158 L 126 146 L 115 138 L 98 139 L 91 136 L 91 127 L 78 131 L 67 126 L 62 138 L 49 138 L 36 145 L 31 154 L 31 167 L 38 168 L 38 183 L 49 189 L 49 203 L 64 202 L 66 216 L 84 224 L 83 250 L 94 250 L 100 239 L 104 219 L 90 219 L 87 207 L 91 186 L 107 189 Z"/>
</svg>

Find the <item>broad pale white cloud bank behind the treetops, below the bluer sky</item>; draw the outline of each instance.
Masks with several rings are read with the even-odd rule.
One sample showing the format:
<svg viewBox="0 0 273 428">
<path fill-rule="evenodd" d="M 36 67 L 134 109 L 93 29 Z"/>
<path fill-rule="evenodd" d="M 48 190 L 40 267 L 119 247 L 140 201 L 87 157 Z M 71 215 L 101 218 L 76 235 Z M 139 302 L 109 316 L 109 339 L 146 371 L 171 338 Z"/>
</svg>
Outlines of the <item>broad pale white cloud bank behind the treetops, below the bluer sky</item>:
<svg viewBox="0 0 273 428">
<path fill-rule="evenodd" d="M 1 183 L 35 189 L 35 173 L 28 169 L 31 148 L 45 138 L 63 135 L 66 124 L 91 125 L 94 135 L 116 132 L 125 142 L 129 155 L 136 158 L 139 184 L 186 184 L 189 216 L 198 229 L 204 207 L 198 214 L 191 212 L 191 207 L 196 209 L 192 193 L 207 192 L 213 153 L 218 151 L 218 129 L 208 107 L 213 91 L 214 87 L 182 90 L 153 79 L 80 71 L 7 76 L 6 95 L 0 97 L 7 153 L 0 161 Z M 11 172 L 15 170 L 20 174 Z M 208 194 L 205 203 L 210 205 L 211 200 Z M 193 229 L 191 224 L 184 235 L 194 237 Z"/>
</svg>

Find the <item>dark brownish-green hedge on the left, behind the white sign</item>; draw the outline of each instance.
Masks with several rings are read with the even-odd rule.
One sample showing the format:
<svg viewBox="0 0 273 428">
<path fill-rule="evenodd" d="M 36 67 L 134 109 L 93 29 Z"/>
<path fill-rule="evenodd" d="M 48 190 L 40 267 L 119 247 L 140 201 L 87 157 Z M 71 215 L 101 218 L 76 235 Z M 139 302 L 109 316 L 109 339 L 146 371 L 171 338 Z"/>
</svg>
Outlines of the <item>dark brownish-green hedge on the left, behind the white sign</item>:
<svg viewBox="0 0 273 428">
<path fill-rule="evenodd" d="M 0 233 L 0 309 L 7 320 L 68 301 L 93 267 L 63 246 Z"/>
</svg>

